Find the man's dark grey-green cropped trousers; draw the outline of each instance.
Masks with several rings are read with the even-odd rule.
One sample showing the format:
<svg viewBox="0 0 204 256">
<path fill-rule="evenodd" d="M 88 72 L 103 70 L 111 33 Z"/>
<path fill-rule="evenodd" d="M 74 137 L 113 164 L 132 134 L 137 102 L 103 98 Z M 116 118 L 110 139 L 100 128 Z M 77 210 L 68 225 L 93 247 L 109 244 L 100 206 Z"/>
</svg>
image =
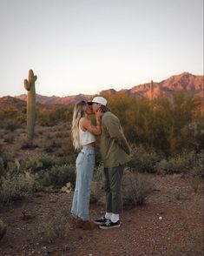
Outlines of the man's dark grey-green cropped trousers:
<svg viewBox="0 0 204 256">
<path fill-rule="evenodd" d="M 122 212 L 122 176 L 124 165 L 104 168 L 106 212 L 119 214 Z"/>
</svg>

